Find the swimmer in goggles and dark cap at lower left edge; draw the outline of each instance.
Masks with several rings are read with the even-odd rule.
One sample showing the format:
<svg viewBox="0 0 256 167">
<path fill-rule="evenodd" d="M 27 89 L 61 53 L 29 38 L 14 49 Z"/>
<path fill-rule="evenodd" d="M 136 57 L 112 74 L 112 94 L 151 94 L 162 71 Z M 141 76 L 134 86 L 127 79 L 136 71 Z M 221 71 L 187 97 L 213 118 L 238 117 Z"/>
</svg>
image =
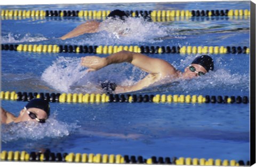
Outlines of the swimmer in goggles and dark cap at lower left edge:
<svg viewBox="0 0 256 167">
<path fill-rule="evenodd" d="M 1 123 L 8 124 L 11 122 L 18 123 L 24 121 L 34 121 L 45 123 L 50 115 L 50 105 L 44 99 L 32 99 L 21 111 L 18 117 L 7 112 L 1 107 Z"/>
</svg>

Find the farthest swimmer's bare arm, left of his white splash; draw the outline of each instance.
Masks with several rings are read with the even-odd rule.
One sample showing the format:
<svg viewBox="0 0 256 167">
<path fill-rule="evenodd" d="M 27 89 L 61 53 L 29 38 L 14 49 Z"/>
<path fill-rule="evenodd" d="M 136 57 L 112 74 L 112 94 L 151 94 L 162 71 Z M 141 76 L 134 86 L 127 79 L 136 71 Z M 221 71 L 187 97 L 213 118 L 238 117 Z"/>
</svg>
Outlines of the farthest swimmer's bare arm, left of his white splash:
<svg viewBox="0 0 256 167">
<path fill-rule="evenodd" d="M 77 26 L 74 30 L 68 32 L 68 34 L 60 37 L 60 39 L 64 40 L 67 38 L 77 37 L 79 35 L 83 35 L 85 33 L 94 33 L 98 31 L 100 22 L 98 21 L 87 21 L 79 26 Z"/>
</svg>

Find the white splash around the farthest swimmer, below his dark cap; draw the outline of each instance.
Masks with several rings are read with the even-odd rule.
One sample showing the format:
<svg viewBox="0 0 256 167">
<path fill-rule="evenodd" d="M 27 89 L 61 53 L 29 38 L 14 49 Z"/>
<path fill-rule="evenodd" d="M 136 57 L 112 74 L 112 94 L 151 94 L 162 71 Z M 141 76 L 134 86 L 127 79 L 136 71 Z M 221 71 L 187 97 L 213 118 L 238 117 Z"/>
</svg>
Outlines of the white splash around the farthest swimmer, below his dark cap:
<svg viewBox="0 0 256 167">
<path fill-rule="evenodd" d="M 152 33 L 154 32 L 154 33 Z M 158 43 L 162 37 L 170 35 L 170 30 L 158 22 L 149 22 L 143 18 L 121 20 L 104 20 L 99 32 L 84 34 L 66 41 L 76 45 L 132 45 L 134 43 Z M 100 39 L 100 40 L 99 40 Z"/>
</svg>

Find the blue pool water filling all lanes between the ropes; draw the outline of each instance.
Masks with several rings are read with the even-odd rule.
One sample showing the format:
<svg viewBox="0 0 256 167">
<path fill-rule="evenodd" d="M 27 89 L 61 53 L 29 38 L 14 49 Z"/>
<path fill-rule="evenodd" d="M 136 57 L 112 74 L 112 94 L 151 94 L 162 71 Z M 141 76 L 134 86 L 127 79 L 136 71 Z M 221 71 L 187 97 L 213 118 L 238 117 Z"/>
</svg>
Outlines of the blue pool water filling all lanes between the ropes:
<svg viewBox="0 0 256 167">
<path fill-rule="evenodd" d="M 2 6 L 19 10 L 226 10 L 250 9 L 249 1 L 140 4 Z M 3 44 L 247 46 L 249 18 L 175 19 L 146 22 L 130 18 L 118 25 L 129 34 L 108 28 L 95 34 L 60 40 L 85 22 L 83 18 L 2 19 Z M 131 85 L 146 73 L 130 64 L 109 65 L 86 73 L 80 57 L 90 54 L 2 51 L 3 91 L 37 93 L 101 93 L 99 82 Z M 148 54 L 183 70 L 195 54 Z M 99 55 L 106 56 L 106 55 Z M 212 54 L 213 72 L 201 78 L 162 84 L 133 94 L 249 96 L 250 55 Z M 2 101 L 15 115 L 26 102 Z M 45 124 L 2 125 L 2 150 L 100 153 L 169 157 L 250 159 L 249 104 L 182 103 L 51 103 Z M 26 124 L 26 126 L 25 126 Z"/>
</svg>

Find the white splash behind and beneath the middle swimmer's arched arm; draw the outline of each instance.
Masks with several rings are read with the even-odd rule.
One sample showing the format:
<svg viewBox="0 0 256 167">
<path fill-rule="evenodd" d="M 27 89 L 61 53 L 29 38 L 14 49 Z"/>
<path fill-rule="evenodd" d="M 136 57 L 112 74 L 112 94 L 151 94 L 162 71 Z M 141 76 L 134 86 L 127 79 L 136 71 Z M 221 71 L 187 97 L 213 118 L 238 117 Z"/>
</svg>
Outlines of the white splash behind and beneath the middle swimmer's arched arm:
<svg viewBox="0 0 256 167">
<path fill-rule="evenodd" d="M 129 63 L 108 65 L 94 72 L 86 72 L 76 57 L 58 57 L 42 74 L 49 87 L 64 93 L 102 93 L 100 83 L 109 81 L 118 85 L 133 85 L 145 77 L 145 72 Z M 131 73 L 131 75 L 127 75 Z"/>
</svg>

